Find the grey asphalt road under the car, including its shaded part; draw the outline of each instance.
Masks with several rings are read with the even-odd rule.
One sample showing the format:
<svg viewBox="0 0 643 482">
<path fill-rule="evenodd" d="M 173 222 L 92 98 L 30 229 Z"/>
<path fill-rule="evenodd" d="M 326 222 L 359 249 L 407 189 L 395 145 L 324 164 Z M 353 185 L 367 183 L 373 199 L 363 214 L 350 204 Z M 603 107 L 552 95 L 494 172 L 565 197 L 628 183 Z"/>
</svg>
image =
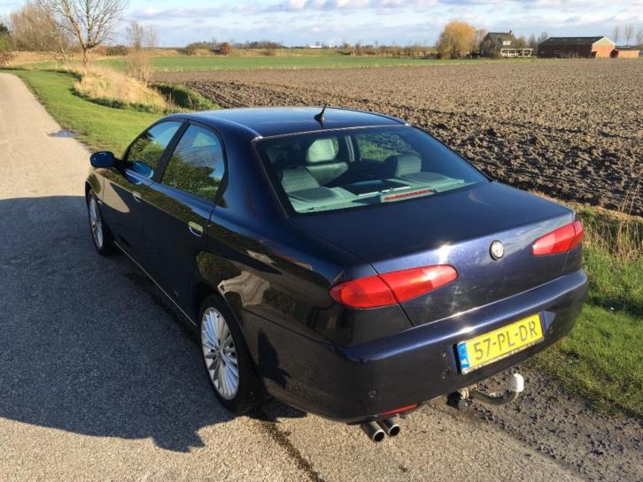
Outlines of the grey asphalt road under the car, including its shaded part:
<svg viewBox="0 0 643 482">
<path fill-rule="evenodd" d="M 276 402 L 230 417 L 180 315 L 126 256 L 94 251 L 89 152 L 59 128 L 0 73 L 0 480 L 581 479 L 448 408 L 379 445 Z"/>
</svg>

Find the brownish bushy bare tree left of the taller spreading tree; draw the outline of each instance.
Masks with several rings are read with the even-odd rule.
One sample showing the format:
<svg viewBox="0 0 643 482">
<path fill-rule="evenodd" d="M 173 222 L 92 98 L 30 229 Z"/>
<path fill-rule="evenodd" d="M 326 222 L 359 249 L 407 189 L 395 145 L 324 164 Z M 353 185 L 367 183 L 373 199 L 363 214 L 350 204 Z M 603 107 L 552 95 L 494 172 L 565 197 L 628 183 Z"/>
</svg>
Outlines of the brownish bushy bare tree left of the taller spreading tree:
<svg viewBox="0 0 643 482">
<path fill-rule="evenodd" d="M 66 64 L 73 38 L 50 15 L 43 5 L 27 2 L 12 11 L 12 39 L 17 49 L 45 52 Z"/>
</svg>

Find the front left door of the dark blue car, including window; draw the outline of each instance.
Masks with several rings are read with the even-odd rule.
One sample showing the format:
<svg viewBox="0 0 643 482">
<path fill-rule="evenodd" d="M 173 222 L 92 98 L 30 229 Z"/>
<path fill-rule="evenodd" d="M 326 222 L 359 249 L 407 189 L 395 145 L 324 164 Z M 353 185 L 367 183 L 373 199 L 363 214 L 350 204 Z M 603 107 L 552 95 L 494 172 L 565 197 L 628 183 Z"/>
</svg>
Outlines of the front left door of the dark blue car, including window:
<svg viewBox="0 0 643 482">
<path fill-rule="evenodd" d="M 139 135 L 118 163 L 105 173 L 103 216 L 115 241 L 130 256 L 143 257 L 143 197 L 159 170 L 167 146 L 182 121 L 164 121 Z"/>
</svg>

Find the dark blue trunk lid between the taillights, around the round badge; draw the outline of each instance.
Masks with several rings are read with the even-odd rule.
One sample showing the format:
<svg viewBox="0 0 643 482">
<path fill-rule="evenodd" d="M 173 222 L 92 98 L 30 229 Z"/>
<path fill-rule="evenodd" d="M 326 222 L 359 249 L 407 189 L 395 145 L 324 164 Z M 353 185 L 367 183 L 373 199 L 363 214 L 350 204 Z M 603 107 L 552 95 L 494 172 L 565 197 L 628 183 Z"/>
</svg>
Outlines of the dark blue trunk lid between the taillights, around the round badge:
<svg viewBox="0 0 643 482">
<path fill-rule="evenodd" d="M 400 203 L 292 220 L 371 264 L 376 272 L 451 264 L 453 282 L 403 302 L 414 325 L 483 306 L 558 278 L 566 253 L 534 256 L 533 241 L 572 222 L 574 212 L 489 182 Z M 504 256 L 494 260 L 493 241 Z"/>
</svg>

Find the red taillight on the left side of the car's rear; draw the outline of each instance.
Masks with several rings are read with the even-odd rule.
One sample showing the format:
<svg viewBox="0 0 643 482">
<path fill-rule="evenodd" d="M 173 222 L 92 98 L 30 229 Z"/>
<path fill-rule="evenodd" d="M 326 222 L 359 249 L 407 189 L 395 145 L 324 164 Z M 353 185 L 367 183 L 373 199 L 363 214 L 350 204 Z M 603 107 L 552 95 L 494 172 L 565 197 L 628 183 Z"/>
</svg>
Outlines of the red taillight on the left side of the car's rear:
<svg viewBox="0 0 643 482">
<path fill-rule="evenodd" d="M 330 288 L 335 301 L 351 308 L 376 308 L 429 293 L 458 278 L 453 266 L 438 264 L 352 279 Z"/>
</svg>

